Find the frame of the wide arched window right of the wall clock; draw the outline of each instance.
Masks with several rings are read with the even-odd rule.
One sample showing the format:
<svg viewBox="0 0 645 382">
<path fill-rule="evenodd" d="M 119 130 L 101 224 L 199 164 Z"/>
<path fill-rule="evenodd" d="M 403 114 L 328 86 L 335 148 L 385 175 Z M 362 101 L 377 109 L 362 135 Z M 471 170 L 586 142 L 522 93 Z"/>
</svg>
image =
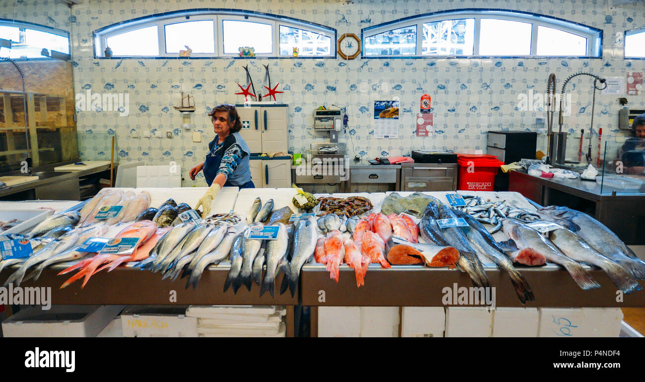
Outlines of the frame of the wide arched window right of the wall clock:
<svg viewBox="0 0 645 382">
<path fill-rule="evenodd" d="M 433 23 L 444 20 L 475 19 L 473 54 L 472 55 L 450 55 L 450 54 L 422 54 L 422 37 L 424 23 Z M 498 19 L 506 21 L 519 21 L 531 24 L 531 53 L 529 55 L 481 55 L 479 53 L 479 39 L 481 30 L 481 19 Z M 388 30 L 404 28 L 417 25 L 417 54 L 415 55 L 366 55 L 361 52 L 361 59 L 412 59 L 412 58 L 602 58 L 602 30 L 592 26 L 576 23 L 551 17 L 547 15 L 521 12 L 517 10 L 468 8 L 459 10 L 444 10 L 427 14 L 404 17 L 379 25 L 368 26 L 361 29 L 361 43 L 364 46 L 365 40 L 375 34 L 387 32 Z M 538 26 L 547 26 L 562 30 L 587 39 L 586 55 L 537 55 Z"/>
</svg>

